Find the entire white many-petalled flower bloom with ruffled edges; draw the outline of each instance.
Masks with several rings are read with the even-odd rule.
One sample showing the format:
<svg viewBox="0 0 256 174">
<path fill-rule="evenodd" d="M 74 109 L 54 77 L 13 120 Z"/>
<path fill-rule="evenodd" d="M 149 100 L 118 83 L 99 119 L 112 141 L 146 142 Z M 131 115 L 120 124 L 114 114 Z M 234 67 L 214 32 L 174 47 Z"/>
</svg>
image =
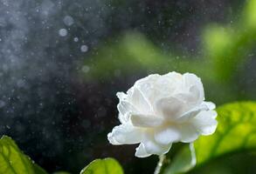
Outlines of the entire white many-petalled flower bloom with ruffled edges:
<svg viewBox="0 0 256 174">
<path fill-rule="evenodd" d="M 194 74 L 149 75 L 117 97 L 121 125 L 107 138 L 115 145 L 140 144 L 136 157 L 165 154 L 173 143 L 211 135 L 218 124 L 215 104 L 204 102 L 203 84 Z"/>
</svg>

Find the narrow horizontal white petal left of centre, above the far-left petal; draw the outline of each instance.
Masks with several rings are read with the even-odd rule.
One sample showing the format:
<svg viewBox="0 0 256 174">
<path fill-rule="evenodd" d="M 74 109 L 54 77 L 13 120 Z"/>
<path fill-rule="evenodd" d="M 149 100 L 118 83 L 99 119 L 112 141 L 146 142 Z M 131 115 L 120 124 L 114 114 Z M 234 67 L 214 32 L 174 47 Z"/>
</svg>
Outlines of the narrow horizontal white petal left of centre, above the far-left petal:
<svg viewBox="0 0 256 174">
<path fill-rule="evenodd" d="M 137 127 L 156 127 L 163 124 L 164 121 L 163 117 L 142 114 L 132 114 L 130 120 Z"/>
</svg>

